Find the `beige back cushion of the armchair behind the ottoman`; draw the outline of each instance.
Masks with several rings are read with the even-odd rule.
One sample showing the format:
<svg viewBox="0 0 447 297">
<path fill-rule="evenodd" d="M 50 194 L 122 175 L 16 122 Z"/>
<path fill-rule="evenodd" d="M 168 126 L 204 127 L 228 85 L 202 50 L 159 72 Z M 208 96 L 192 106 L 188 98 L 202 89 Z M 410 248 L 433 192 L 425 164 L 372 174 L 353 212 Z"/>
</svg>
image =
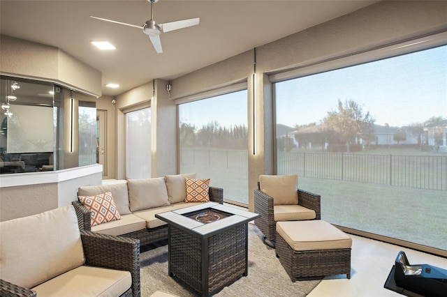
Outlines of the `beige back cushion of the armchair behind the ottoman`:
<svg viewBox="0 0 447 297">
<path fill-rule="evenodd" d="M 298 204 L 298 176 L 261 175 L 260 190 L 273 197 L 274 205 Z"/>
</svg>

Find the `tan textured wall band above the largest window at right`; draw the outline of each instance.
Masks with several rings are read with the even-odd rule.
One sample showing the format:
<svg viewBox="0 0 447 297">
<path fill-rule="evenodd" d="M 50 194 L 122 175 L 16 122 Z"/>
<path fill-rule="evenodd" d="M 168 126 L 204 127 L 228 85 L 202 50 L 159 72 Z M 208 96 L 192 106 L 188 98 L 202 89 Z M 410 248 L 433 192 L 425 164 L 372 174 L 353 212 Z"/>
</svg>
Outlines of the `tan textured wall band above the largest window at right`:
<svg viewBox="0 0 447 297">
<path fill-rule="evenodd" d="M 447 1 L 381 1 L 258 47 L 268 73 L 388 45 L 447 29 Z"/>
</svg>

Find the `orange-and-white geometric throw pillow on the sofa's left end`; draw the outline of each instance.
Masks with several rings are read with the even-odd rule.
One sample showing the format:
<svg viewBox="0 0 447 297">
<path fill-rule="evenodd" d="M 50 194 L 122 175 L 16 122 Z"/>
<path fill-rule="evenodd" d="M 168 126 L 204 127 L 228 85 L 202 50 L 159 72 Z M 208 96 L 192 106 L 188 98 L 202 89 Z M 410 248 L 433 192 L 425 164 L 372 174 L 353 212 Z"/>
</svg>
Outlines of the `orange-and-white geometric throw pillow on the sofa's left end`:
<svg viewBox="0 0 447 297">
<path fill-rule="evenodd" d="M 79 201 L 91 211 L 91 226 L 121 219 L 111 192 L 87 197 L 80 196 Z"/>
</svg>

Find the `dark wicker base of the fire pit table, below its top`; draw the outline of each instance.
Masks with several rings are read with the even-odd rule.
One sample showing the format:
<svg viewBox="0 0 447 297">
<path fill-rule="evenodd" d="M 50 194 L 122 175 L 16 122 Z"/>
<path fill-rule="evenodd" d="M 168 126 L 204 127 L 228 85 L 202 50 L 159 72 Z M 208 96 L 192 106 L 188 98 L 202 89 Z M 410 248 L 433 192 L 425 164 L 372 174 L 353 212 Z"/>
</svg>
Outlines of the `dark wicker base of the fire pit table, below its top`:
<svg viewBox="0 0 447 297">
<path fill-rule="evenodd" d="M 178 277 L 202 296 L 247 276 L 247 223 L 198 238 L 170 226 L 170 276 Z"/>
</svg>

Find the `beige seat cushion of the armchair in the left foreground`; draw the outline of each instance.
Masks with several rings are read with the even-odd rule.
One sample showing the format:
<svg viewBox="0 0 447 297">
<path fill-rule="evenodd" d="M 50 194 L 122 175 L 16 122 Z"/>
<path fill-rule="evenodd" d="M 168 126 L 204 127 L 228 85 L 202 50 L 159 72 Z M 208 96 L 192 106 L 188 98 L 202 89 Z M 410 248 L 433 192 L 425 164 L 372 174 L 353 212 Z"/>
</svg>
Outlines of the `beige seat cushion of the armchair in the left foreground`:
<svg viewBox="0 0 447 297">
<path fill-rule="evenodd" d="M 129 290 L 132 276 L 129 271 L 80 266 L 32 288 L 37 296 L 120 296 Z"/>
</svg>

